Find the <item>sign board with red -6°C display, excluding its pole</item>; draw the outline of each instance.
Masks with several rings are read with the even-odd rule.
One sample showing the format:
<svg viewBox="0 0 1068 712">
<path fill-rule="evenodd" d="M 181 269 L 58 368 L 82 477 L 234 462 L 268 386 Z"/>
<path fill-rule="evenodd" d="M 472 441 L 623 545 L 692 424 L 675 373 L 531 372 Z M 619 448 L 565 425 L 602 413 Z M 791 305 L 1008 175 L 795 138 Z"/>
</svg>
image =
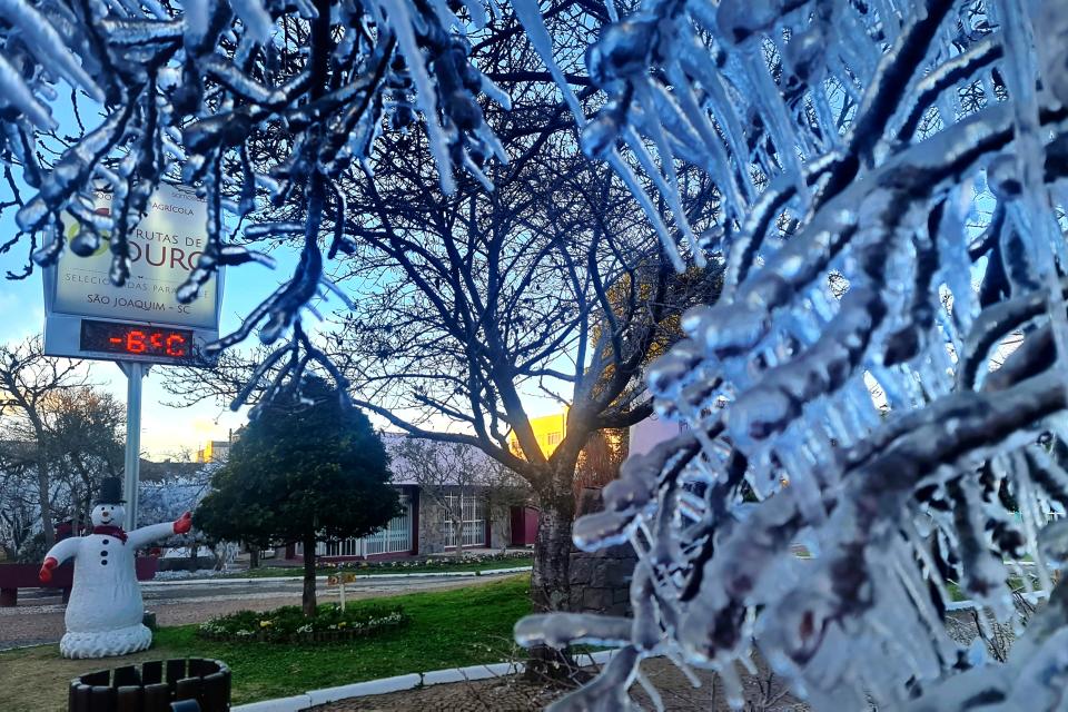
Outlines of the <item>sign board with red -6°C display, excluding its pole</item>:
<svg viewBox="0 0 1068 712">
<path fill-rule="evenodd" d="M 111 194 L 97 191 L 93 208 L 110 215 Z M 207 208 L 184 187 L 161 185 L 148 212 L 129 235 L 130 277 L 111 284 L 110 244 L 88 256 L 70 241 L 81 226 L 62 216 L 68 247 L 44 270 L 44 350 L 50 356 L 103 358 L 149 364 L 194 363 L 200 348 L 218 338 L 221 270 L 192 304 L 176 297 L 207 244 Z"/>
</svg>

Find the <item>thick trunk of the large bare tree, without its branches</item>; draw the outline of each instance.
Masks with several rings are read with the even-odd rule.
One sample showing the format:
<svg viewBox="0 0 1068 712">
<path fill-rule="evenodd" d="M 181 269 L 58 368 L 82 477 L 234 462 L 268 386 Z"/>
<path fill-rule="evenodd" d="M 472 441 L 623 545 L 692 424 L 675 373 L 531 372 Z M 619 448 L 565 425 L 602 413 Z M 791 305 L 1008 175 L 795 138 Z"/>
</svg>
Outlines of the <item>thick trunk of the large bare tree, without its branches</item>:
<svg viewBox="0 0 1068 712">
<path fill-rule="evenodd" d="M 575 517 L 575 500 L 571 474 L 553 473 L 553 485 L 538 496 L 537 538 L 534 542 L 534 567 L 531 572 L 531 601 L 535 613 L 567 611 L 571 607 L 571 526 Z M 547 646 L 531 650 L 527 678 L 570 678 L 574 662 L 567 651 Z"/>
</svg>

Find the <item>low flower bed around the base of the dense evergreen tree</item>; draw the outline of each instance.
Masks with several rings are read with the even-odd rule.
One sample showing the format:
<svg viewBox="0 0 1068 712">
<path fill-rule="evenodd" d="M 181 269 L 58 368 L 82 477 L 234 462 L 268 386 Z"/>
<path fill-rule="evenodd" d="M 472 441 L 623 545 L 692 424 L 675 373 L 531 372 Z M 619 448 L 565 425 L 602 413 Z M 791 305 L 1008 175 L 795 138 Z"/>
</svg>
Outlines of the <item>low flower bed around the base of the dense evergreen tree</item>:
<svg viewBox="0 0 1068 712">
<path fill-rule="evenodd" d="M 211 641 L 263 641 L 268 643 L 310 643 L 347 641 L 375 635 L 406 625 L 408 616 L 399 605 L 349 605 L 342 612 L 337 604 L 319 606 L 318 615 L 305 617 L 300 606 L 287 605 L 274 611 L 238 611 L 201 623 L 199 637 Z"/>
</svg>

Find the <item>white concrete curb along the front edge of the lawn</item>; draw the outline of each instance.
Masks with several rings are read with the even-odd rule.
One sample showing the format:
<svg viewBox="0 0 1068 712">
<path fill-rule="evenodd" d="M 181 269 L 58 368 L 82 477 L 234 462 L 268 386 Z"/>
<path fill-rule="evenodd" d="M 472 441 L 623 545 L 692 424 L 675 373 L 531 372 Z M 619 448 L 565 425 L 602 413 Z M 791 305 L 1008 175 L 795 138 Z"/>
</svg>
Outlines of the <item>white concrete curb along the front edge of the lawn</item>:
<svg viewBox="0 0 1068 712">
<path fill-rule="evenodd" d="M 615 654 L 614 650 L 605 650 L 600 653 L 586 654 L 580 657 L 589 657 L 591 664 L 602 665 Z M 412 673 L 408 675 L 396 675 L 395 678 L 382 678 L 379 680 L 368 680 L 357 682 L 350 685 L 340 685 L 337 688 L 325 688 L 323 690 L 312 690 L 304 694 L 291 698 L 279 698 L 277 700 L 264 700 L 263 702 L 253 702 L 250 704 L 240 704 L 230 708 L 230 712 L 300 712 L 319 704 L 338 702 L 340 700 L 350 700 L 353 698 L 366 698 L 373 694 L 386 694 L 389 692 L 402 692 L 404 690 L 414 690 L 415 688 L 427 688 L 429 685 L 448 684 L 453 682 L 464 682 L 467 680 L 485 680 L 487 678 L 503 678 L 523 672 L 523 663 L 493 663 L 488 665 L 469 665 L 467 668 L 451 668 L 448 670 L 434 670 L 431 672 Z"/>
</svg>

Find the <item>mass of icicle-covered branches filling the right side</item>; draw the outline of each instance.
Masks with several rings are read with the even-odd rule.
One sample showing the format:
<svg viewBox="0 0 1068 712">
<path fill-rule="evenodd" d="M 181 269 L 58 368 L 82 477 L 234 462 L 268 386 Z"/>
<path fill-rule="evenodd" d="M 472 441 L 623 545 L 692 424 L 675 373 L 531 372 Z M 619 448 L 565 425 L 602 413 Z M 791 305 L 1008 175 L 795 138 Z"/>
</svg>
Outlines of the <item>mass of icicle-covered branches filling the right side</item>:
<svg viewBox="0 0 1068 712">
<path fill-rule="evenodd" d="M 516 629 L 620 649 L 558 709 L 632 705 L 653 655 L 740 705 L 753 647 L 820 710 L 1062 709 L 1066 38 L 1060 2 L 646 0 L 589 48 L 583 148 L 728 284 L 647 372 L 683 433 L 575 525 L 639 553 L 633 620 Z M 690 229 L 682 165 L 716 229 Z M 1050 603 L 1007 659 L 953 641 L 951 584 L 1011 620 L 1025 557 Z"/>
</svg>

